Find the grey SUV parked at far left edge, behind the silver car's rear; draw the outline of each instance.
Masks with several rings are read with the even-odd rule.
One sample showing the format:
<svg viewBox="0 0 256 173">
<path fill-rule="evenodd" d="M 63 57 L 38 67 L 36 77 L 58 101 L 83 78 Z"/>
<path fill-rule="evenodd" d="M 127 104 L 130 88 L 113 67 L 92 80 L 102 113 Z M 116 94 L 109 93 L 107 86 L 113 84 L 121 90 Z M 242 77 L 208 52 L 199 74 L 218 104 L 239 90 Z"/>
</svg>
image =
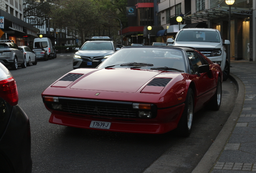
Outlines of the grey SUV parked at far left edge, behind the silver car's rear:
<svg viewBox="0 0 256 173">
<path fill-rule="evenodd" d="M 18 65 L 27 67 L 27 60 L 21 48 L 13 40 L 0 40 L 0 62 L 12 70 L 17 70 Z"/>
</svg>

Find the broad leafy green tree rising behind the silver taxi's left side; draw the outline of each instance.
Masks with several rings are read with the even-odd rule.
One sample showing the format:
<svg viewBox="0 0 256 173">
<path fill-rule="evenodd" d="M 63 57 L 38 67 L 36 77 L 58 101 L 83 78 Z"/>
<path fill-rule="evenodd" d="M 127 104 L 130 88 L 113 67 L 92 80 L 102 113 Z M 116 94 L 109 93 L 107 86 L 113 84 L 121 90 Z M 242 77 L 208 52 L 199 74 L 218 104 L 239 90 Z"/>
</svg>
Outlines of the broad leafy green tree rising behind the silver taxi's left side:
<svg viewBox="0 0 256 173">
<path fill-rule="evenodd" d="M 77 31 L 82 42 L 97 26 L 96 14 L 97 4 L 94 0 L 62 0 L 51 8 L 54 27 Z"/>
</svg>

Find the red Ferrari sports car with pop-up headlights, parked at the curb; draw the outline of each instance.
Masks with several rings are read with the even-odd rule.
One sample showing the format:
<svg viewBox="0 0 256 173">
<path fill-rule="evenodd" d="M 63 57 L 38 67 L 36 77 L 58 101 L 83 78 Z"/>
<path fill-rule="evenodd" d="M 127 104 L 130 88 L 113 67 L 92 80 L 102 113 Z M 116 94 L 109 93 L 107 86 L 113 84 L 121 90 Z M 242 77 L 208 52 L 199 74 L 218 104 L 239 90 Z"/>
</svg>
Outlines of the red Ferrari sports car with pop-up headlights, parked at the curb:
<svg viewBox="0 0 256 173">
<path fill-rule="evenodd" d="M 50 123 L 128 133 L 176 129 L 188 136 L 196 111 L 221 105 L 221 67 L 192 48 L 125 46 L 93 65 L 43 91 Z"/>
</svg>

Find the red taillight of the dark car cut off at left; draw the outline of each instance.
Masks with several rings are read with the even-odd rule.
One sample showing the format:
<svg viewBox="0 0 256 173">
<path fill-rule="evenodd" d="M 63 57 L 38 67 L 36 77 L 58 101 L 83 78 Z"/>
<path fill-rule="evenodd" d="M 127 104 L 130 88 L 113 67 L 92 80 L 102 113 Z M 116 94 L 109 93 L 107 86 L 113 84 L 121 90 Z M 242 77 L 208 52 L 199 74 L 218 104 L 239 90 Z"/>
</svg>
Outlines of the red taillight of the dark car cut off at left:
<svg viewBox="0 0 256 173">
<path fill-rule="evenodd" d="M 13 77 L 0 81 L 0 97 L 12 106 L 18 104 L 18 90 Z"/>
</svg>

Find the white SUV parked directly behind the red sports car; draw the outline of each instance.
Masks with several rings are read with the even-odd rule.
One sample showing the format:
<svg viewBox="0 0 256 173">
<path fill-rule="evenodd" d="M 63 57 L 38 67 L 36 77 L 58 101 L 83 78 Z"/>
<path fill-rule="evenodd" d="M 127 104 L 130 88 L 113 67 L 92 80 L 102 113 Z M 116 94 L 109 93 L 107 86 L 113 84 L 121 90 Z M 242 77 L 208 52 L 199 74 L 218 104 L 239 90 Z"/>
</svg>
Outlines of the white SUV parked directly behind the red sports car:
<svg viewBox="0 0 256 173">
<path fill-rule="evenodd" d="M 168 46 L 186 46 L 198 49 L 211 61 L 221 66 L 223 80 L 229 77 L 229 62 L 224 45 L 230 44 L 229 40 L 223 43 L 221 34 L 217 29 L 209 28 L 184 28 L 175 37 L 167 39 Z"/>
</svg>

